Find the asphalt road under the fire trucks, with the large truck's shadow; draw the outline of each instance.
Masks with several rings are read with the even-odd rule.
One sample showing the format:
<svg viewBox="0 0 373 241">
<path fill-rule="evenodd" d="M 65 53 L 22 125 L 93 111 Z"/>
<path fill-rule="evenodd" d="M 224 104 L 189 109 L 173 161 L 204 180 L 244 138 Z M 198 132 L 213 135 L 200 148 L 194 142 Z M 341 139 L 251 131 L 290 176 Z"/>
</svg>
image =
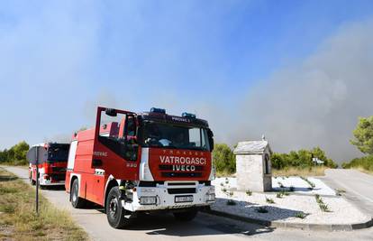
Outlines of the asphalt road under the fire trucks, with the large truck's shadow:
<svg viewBox="0 0 373 241">
<path fill-rule="evenodd" d="M 27 170 L 6 167 L 28 182 Z M 189 223 L 175 221 L 172 215 L 137 218 L 130 229 L 114 229 L 107 223 L 102 209 L 73 209 L 65 190 L 41 190 L 59 209 L 71 213 L 93 240 L 373 240 L 373 228 L 350 232 L 303 231 L 268 228 L 200 213 Z"/>
</svg>

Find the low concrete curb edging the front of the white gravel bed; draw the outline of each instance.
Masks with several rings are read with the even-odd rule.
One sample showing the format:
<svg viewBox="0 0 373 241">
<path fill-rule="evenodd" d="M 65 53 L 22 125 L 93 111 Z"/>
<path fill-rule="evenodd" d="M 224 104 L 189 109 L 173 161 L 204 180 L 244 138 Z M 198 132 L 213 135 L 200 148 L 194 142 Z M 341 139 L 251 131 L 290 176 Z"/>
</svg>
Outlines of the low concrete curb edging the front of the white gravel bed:
<svg viewBox="0 0 373 241">
<path fill-rule="evenodd" d="M 361 228 L 367 228 L 373 226 L 373 218 L 370 218 L 368 221 L 363 223 L 356 224 L 305 224 L 305 223 L 287 223 L 281 221 L 268 221 L 257 218 L 247 218 L 239 215 L 234 215 L 231 213 L 226 213 L 222 211 L 217 211 L 213 209 L 203 210 L 205 213 L 213 214 L 215 216 L 223 218 L 232 218 L 235 220 L 254 223 L 266 227 L 287 227 L 287 228 L 297 228 L 302 230 L 323 230 L 323 231 L 352 231 Z"/>
</svg>

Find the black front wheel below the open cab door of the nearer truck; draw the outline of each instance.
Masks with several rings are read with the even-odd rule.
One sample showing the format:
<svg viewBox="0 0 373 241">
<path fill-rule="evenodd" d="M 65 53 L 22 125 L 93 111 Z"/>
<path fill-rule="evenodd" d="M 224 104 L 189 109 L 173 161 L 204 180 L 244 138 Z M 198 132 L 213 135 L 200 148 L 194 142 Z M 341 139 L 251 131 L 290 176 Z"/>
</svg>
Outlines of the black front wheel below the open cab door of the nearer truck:
<svg viewBox="0 0 373 241">
<path fill-rule="evenodd" d="M 131 216 L 129 218 L 124 215 L 130 215 L 129 211 L 126 211 L 122 207 L 121 192 L 118 187 L 113 187 L 106 199 L 106 217 L 111 227 L 123 228 L 128 227 L 131 224 Z"/>
</svg>

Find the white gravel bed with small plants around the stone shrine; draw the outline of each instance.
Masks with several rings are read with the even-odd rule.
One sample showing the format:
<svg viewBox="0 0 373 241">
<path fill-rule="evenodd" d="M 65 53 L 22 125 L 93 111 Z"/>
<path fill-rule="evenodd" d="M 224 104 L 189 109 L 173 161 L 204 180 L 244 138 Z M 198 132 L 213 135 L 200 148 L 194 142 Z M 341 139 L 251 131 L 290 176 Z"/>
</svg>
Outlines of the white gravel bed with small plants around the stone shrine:
<svg viewBox="0 0 373 241">
<path fill-rule="evenodd" d="M 277 178 L 277 180 L 278 179 L 281 178 Z M 283 182 L 284 186 L 287 186 L 288 183 L 294 183 L 294 181 L 291 182 L 291 178 L 286 180 L 287 182 L 285 180 L 281 181 Z M 297 179 L 295 180 L 299 181 Z M 323 183 L 323 181 L 311 178 L 309 178 L 309 180 L 315 183 L 315 191 L 317 191 L 318 187 L 320 187 L 318 191 L 331 195 L 330 190 L 332 189 L 327 187 L 325 184 L 321 184 Z M 368 220 L 368 216 L 361 213 L 359 209 L 356 209 L 353 205 L 351 205 L 348 201 L 341 197 L 322 197 L 323 202 L 330 209 L 329 212 L 324 212 L 317 204 L 314 195 L 296 195 L 296 193 L 290 193 L 289 196 L 277 198 L 277 193 L 253 192 L 249 196 L 243 191 L 235 190 L 235 178 L 230 178 L 227 182 L 228 183 L 226 183 L 226 180 L 224 178 L 216 179 L 213 182 L 215 185 L 217 200 L 212 205 L 212 209 L 231 213 L 234 215 L 240 215 L 247 218 L 259 218 L 269 221 L 283 221 L 293 223 L 353 224 L 365 222 Z M 221 183 L 223 183 L 223 186 Z M 306 189 L 309 186 L 307 182 L 305 182 L 305 184 L 303 185 L 305 185 Z M 323 186 L 325 186 L 327 189 L 322 188 Z M 306 192 L 306 190 L 303 190 L 301 187 L 297 187 L 297 191 Z M 224 192 L 223 189 L 226 189 L 227 191 Z M 329 190 L 329 192 L 327 190 Z M 230 192 L 232 196 L 230 195 Z M 332 192 L 334 193 L 333 190 Z M 310 191 L 306 193 L 310 193 Z M 266 198 L 273 199 L 275 203 L 269 204 L 266 201 Z M 233 199 L 236 205 L 228 205 L 228 199 Z M 259 213 L 257 210 L 259 207 L 268 209 L 268 213 Z M 296 218 L 299 213 L 303 214 L 305 218 Z"/>
</svg>

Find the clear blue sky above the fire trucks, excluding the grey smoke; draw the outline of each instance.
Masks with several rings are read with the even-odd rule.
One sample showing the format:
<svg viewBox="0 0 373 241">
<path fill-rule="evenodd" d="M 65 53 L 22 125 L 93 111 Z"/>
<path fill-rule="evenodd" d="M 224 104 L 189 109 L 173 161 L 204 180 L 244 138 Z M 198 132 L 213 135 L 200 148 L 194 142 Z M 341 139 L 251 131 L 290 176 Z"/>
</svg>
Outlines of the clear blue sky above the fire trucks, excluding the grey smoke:
<svg viewBox="0 0 373 241">
<path fill-rule="evenodd" d="M 2 1 L 0 149 L 69 136 L 97 104 L 196 112 L 232 144 L 221 116 L 250 89 L 372 14 L 372 1 Z"/>
</svg>

